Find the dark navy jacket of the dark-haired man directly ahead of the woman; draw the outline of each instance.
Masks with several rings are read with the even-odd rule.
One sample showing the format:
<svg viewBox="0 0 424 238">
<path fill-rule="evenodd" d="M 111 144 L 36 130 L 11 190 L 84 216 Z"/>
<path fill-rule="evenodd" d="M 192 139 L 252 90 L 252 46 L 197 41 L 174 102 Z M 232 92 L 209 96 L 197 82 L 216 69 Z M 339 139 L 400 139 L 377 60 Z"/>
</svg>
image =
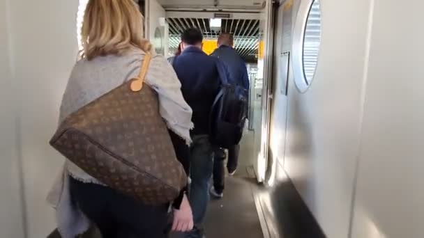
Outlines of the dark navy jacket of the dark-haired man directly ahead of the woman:
<svg viewBox="0 0 424 238">
<path fill-rule="evenodd" d="M 219 63 L 197 47 L 189 47 L 174 58 L 172 65 L 181 81 L 183 97 L 193 110 L 192 135 L 209 134 L 209 114 L 221 85 Z"/>
</svg>

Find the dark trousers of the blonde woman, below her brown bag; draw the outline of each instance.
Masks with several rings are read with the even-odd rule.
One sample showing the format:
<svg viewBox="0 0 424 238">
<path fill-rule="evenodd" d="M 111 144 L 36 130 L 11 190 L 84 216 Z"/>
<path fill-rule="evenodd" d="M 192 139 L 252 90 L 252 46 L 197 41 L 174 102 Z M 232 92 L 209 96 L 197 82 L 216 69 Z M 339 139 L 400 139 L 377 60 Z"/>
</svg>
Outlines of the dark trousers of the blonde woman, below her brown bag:
<svg viewBox="0 0 424 238">
<path fill-rule="evenodd" d="M 73 203 L 95 223 L 103 238 L 165 238 L 168 207 L 144 205 L 109 187 L 70 177 Z"/>
</svg>

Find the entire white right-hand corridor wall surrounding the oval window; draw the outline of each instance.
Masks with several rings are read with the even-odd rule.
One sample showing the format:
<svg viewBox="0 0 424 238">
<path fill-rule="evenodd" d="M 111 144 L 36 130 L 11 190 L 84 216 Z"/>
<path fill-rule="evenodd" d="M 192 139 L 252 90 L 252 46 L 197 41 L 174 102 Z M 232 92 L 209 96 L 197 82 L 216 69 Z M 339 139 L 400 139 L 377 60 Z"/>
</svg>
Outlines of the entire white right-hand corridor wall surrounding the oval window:
<svg viewBox="0 0 424 238">
<path fill-rule="evenodd" d="M 423 8 L 321 1 L 315 79 L 299 93 L 290 77 L 285 170 L 328 238 L 423 237 Z"/>
</svg>

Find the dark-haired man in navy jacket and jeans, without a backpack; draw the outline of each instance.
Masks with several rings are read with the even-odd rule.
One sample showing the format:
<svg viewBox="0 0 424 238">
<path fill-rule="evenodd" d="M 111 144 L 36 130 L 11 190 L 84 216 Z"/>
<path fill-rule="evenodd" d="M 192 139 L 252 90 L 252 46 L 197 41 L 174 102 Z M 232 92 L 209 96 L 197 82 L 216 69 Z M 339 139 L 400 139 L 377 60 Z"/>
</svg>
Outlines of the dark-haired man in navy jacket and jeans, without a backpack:
<svg viewBox="0 0 424 238">
<path fill-rule="evenodd" d="M 220 90 L 218 58 L 202 51 L 203 35 L 197 29 L 187 29 L 181 35 L 181 55 L 172 65 L 181 81 L 185 101 L 193 110 L 192 146 L 190 154 L 190 205 L 195 230 L 186 237 L 202 237 L 202 223 L 209 201 L 209 180 L 213 170 L 213 146 L 209 140 L 212 105 Z"/>
</svg>

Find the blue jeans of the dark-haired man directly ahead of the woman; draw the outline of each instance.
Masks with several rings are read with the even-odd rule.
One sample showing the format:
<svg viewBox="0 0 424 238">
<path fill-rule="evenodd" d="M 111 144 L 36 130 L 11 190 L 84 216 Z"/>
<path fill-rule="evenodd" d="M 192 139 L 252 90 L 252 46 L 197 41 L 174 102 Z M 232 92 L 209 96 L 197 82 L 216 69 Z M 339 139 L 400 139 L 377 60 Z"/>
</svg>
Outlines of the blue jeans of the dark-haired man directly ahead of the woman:
<svg viewBox="0 0 424 238">
<path fill-rule="evenodd" d="M 209 203 L 209 181 L 213 170 L 213 146 L 209 136 L 193 136 L 190 148 L 190 192 L 189 200 L 193 212 L 195 229 L 185 237 L 201 238 L 203 235 L 202 223 L 206 216 Z"/>
</svg>

